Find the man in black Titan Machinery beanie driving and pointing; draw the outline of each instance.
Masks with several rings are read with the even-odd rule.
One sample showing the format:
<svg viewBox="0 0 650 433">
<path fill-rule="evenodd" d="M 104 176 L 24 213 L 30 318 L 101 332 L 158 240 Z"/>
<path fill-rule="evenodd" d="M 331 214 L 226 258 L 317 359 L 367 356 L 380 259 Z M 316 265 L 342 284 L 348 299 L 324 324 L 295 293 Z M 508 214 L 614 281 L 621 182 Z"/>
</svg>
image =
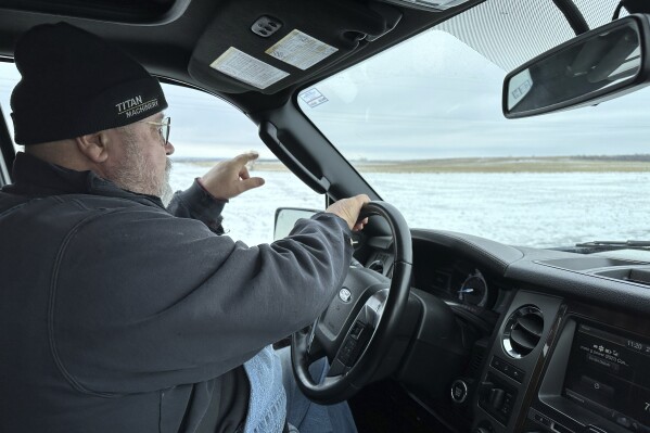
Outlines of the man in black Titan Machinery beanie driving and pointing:
<svg viewBox="0 0 650 433">
<path fill-rule="evenodd" d="M 177 193 L 173 216 L 157 80 L 66 24 L 29 30 L 15 62 L 25 153 L 0 192 L 0 431 L 286 429 L 268 344 L 329 304 L 368 198 L 270 245 L 235 243 L 219 214 L 264 183 L 245 168 L 254 154 Z"/>
</svg>

